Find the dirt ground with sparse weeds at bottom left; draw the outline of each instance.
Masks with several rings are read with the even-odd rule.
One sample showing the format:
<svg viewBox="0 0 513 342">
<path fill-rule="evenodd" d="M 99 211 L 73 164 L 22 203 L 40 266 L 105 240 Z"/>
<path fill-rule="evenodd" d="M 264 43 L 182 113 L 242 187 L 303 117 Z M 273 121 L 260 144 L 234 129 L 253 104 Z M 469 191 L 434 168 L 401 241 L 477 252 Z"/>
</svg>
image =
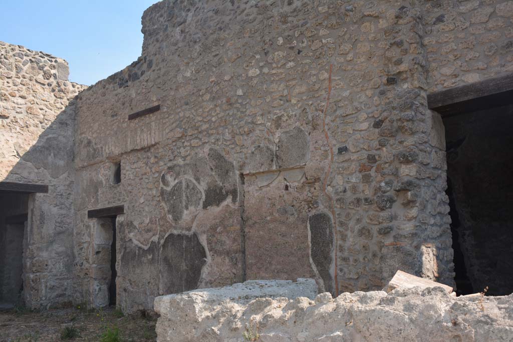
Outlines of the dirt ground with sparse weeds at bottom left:
<svg viewBox="0 0 513 342">
<path fill-rule="evenodd" d="M 0 311 L 0 342 L 99 342 L 107 328 L 118 328 L 121 341 L 155 341 L 155 317 L 122 316 L 113 308 L 84 310 L 83 308 L 50 309 L 31 312 L 23 309 Z M 80 336 L 62 338 L 66 327 Z"/>
</svg>

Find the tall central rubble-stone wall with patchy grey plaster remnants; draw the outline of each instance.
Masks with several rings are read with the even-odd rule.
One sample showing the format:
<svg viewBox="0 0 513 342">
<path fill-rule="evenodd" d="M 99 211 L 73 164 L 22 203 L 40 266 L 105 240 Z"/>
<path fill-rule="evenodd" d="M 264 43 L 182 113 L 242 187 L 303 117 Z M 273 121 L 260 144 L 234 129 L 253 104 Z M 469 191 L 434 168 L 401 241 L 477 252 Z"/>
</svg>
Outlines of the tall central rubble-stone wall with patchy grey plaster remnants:
<svg viewBox="0 0 513 342">
<path fill-rule="evenodd" d="M 451 284 L 424 7 L 150 7 L 143 56 L 78 100 L 76 293 L 94 301 L 87 209 L 117 204 L 125 311 L 151 308 L 159 294 L 255 278 L 315 277 L 337 293 L 381 289 L 403 269 Z"/>
</svg>

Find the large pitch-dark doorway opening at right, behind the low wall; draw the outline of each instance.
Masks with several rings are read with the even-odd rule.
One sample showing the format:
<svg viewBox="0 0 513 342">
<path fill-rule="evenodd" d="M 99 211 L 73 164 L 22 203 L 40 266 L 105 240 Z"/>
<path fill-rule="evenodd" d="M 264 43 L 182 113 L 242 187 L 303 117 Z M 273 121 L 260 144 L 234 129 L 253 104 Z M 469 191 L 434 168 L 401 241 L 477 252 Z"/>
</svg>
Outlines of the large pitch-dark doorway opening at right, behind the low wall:
<svg viewBox="0 0 513 342">
<path fill-rule="evenodd" d="M 443 121 L 457 292 L 513 293 L 513 105 Z"/>
</svg>

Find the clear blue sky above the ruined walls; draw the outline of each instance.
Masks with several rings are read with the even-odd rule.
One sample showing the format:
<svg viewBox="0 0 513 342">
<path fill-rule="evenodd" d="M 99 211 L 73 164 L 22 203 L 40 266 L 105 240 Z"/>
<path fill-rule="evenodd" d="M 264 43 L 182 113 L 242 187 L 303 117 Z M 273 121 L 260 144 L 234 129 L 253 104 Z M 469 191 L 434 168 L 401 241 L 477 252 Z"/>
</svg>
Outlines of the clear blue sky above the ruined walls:
<svg viewBox="0 0 513 342">
<path fill-rule="evenodd" d="M 141 16 L 158 0 L 3 0 L 0 41 L 68 61 L 70 81 L 91 85 L 141 55 Z"/>
</svg>

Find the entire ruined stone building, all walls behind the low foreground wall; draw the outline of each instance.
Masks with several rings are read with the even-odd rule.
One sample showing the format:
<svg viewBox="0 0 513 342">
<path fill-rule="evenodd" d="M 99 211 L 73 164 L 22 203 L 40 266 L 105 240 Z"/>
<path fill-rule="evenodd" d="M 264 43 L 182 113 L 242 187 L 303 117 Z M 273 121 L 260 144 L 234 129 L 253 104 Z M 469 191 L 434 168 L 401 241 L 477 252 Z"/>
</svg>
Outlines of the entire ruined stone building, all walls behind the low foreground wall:
<svg viewBox="0 0 513 342">
<path fill-rule="evenodd" d="M 512 18 L 504 0 L 165 0 L 142 57 L 85 90 L 0 43 L 0 301 L 134 312 L 398 269 L 513 292 L 511 106 L 432 105 L 513 71 Z"/>
</svg>

